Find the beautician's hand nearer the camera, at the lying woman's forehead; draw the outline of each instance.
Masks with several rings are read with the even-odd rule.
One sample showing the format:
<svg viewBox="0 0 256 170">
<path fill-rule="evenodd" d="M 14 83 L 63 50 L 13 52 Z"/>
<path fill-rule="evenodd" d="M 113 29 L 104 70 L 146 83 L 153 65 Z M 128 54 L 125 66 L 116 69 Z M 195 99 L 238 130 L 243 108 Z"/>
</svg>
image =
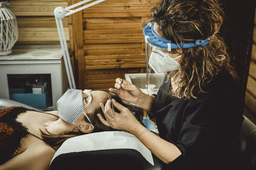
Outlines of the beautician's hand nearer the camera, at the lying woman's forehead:
<svg viewBox="0 0 256 170">
<path fill-rule="evenodd" d="M 120 111 L 120 113 L 116 113 L 115 111 L 113 111 L 113 109 L 111 108 L 111 102 L 113 103 L 115 108 Z M 100 122 L 108 127 L 112 127 L 113 129 L 120 129 L 127 132 L 134 132 L 136 131 L 138 125 L 140 125 L 140 122 L 136 120 L 131 111 L 122 106 L 122 104 L 117 103 L 115 99 L 112 99 L 112 101 L 108 100 L 106 106 L 100 103 L 100 107 L 106 117 L 106 120 L 104 120 L 104 118 L 100 114 L 98 114 L 97 116 L 99 117 Z"/>
</svg>

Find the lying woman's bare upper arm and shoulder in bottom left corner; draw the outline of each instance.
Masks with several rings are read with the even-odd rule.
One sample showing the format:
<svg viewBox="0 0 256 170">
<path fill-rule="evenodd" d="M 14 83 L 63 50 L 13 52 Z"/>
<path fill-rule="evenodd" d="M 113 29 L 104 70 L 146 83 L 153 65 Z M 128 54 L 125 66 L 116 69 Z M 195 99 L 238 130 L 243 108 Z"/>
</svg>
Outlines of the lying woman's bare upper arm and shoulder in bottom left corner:
<svg viewBox="0 0 256 170">
<path fill-rule="evenodd" d="M 0 170 L 46 170 L 54 155 L 54 150 L 48 146 L 31 147 L 0 166 Z"/>
</svg>

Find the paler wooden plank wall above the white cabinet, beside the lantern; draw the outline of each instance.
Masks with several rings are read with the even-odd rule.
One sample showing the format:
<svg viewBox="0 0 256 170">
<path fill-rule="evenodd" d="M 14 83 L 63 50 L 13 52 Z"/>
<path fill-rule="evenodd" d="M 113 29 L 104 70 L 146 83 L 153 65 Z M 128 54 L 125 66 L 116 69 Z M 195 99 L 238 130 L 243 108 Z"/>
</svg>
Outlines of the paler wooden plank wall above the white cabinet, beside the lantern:
<svg viewBox="0 0 256 170">
<path fill-rule="evenodd" d="M 17 17 L 19 39 L 16 45 L 60 44 L 53 11 L 67 6 L 67 0 L 12 0 L 10 8 Z M 68 18 L 63 19 L 69 40 Z"/>
</svg>

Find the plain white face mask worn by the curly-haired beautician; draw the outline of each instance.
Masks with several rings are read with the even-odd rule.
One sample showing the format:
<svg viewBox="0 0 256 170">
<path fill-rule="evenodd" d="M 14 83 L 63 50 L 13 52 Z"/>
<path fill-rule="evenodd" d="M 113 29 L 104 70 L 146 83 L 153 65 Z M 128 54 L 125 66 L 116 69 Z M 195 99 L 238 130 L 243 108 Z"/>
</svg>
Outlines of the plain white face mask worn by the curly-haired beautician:
<svg viewBox="0 0 256 170">
<path fill-rule="evenodd" d="M 174 59 L 168 54 L 154 47 L 148 60 L 148 64 L 156 73 L 166 73 L 168 71 L 174 71 L 180 68 L 179 62 L 177 60 L 182 55 L 175 57 Z"/>
</svg>

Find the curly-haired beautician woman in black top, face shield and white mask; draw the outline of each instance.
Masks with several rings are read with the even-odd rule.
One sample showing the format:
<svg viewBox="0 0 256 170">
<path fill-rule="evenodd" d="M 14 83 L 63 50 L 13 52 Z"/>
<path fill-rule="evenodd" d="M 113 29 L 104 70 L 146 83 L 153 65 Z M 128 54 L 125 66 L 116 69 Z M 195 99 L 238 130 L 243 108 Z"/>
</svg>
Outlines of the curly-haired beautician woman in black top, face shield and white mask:
<svg viewBox="0 0 256 170">
<path fill-rule="evenodd" d="M 148 66 L 166 72 L 157 95 L 148 96 L 121 78 L 109 89 L 156 117 L 159 136 L 115 100 L 100 103 L 103 124 L 134 134 L 165 169 L 240 169 L 243 111 L 237 76 L 220 38 L 218 0 L 163 0 L 144 27 Z M 113 111 L 111 104 L 121 111 Z"/>
</svg>

